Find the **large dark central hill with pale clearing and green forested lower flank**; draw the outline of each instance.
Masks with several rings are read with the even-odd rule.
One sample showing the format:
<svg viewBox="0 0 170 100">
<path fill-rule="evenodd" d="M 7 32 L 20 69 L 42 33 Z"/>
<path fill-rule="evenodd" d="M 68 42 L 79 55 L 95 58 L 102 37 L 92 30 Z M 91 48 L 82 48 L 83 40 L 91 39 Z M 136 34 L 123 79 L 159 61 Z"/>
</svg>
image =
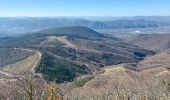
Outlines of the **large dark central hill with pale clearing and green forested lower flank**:
<svg viewBox="0 0 170 100">
<path fill-rule="evenodd" d="M 0 47 L 39 50 L 43 59 L 37 72 L 42 73 L 45 79 L 56 82 L 72 81 L 77 76 L 100 73 L 105 66 L 136 63 L 155 54 L 153 51 L 79 26 L 46 29 L 2 38 Z M 63 73 L 59 73 L 59 70 Z"/>
</svg>

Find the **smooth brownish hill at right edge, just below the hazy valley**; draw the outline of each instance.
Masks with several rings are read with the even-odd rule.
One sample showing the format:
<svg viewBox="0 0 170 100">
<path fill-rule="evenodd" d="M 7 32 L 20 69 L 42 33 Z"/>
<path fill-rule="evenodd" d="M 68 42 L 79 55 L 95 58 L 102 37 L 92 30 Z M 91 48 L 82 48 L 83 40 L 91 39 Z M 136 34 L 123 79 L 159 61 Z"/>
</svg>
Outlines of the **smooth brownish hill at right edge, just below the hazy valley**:
<svg viewBox="0 0 170 100">
<path fill-rule="evenodd" d="M 141 34 L 134 37 L 130 43 L 160 52 L 170 48 L 170 34 Z"/>
</svg>

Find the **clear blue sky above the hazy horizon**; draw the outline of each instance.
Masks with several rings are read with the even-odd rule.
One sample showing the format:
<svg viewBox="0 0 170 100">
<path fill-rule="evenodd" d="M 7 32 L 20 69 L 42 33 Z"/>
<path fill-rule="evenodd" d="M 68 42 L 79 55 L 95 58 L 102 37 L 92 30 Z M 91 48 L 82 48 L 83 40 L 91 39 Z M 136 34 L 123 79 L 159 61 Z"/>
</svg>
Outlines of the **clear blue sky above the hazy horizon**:
<svg viewBox="0 0 170 100">
<path fill-rule="evenodd" d="M 0 0 L 0 16 L 167 16 L 170 0 Z"/>
</svg>

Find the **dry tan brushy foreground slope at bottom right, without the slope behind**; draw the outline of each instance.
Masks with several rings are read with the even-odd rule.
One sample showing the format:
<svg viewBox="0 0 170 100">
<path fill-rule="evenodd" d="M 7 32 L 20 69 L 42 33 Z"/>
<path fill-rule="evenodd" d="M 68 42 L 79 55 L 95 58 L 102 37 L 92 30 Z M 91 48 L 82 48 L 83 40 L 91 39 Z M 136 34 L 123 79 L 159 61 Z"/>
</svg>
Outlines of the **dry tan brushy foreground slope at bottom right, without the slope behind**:
<svg viewBox="0 0 170 100">
<path fill-rule="evenodd" d="M 114 67 L 114 66 L 113 66 Z M 166 85 L 170 74 L 165 68 L 135 72 L 123 67 L 109 68 L 89 81 L 85 87 L 73 89 L 66 100 L 168 100 Z M 158 76 L 159 74 L 159 76 Z M 165 82 L 165 84 L 164 84 Z M 155 99 L 157 98 L 157 99 Z"/>
</svg>

